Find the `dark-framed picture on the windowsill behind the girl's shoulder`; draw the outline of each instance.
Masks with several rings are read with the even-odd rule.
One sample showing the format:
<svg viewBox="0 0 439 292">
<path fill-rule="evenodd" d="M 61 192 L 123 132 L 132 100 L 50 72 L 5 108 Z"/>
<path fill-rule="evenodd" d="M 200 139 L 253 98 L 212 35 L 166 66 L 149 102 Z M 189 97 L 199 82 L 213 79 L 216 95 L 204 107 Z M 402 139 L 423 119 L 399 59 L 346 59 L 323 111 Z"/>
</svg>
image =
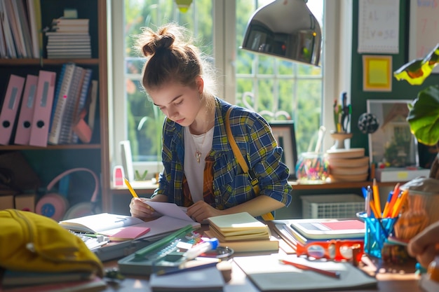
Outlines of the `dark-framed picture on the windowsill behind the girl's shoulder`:
<svg viewBox="0 0 439 292">
<path fill-rule="evenodd" d="M 271 121 L 269 124 L 278 146 L 283 148 L 281 161 L 290 169 L 289 179 L 296 179 L 297 146 L 294 121 Z"/>
</svg>

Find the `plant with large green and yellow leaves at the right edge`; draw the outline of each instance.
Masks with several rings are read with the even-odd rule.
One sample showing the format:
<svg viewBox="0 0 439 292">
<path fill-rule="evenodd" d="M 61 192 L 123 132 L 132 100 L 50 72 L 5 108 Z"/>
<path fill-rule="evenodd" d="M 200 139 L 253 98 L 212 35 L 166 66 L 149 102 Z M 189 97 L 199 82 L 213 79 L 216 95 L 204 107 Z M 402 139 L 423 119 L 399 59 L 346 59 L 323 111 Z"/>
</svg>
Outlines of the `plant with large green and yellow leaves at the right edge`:
<svg viewBox="0 0 439 292">
<path fill-rule="evenodd" d="M 397 80 L 421 85 L 439 62 L 439 43 L 423 59 L 408 62 L 393 73 Z M 407 122 L 417 141 L 439 150 L 439 85 L 429 85 L 419 91 L 408 104 Z M 439 179 L 439 151 L 431 165 L 430 177 Z"/>
</svg>

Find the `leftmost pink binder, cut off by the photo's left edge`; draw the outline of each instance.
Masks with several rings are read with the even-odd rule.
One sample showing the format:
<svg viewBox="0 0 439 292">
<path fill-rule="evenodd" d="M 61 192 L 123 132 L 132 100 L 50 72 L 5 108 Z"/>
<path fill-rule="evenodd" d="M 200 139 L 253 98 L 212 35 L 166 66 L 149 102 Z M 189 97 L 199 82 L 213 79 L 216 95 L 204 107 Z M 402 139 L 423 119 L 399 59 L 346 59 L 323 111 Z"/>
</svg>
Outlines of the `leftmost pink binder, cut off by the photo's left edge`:
<svg viewBox="0 0 439 292">
<path fill-rule="evenodd" d="M 15 125 L 25 78 L 11 74 L 0 113 L 0 144 L 8 145 Z"/>
</svg>

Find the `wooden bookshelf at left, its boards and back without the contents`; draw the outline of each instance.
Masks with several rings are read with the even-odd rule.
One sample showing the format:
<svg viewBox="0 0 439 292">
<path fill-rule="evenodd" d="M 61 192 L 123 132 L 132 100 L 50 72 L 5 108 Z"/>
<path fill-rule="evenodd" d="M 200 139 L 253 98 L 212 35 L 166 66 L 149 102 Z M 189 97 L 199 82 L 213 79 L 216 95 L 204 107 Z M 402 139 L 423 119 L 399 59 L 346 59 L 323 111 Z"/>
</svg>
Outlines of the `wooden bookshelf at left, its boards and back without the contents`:
<svg viewBox="0 0 439 292">
<path fill-rule="evenodd" d="M 13 0 L 15 1 L 15 0 Z M 54 18 L 60 18 L 65 8 L 74 8 L 78 18 L 88 18 L 90 59 L 63 58 L 47 59 L 47 37 L 43 35 L 43 55 L 38 58 L 1 58 L 0 59 L 0 102 L 11 74 L 26 76 L 38 75 L 40 70 L 54 71 L 58 77 L 62 64 L 74 62 L 83 68 L 93 69 L 92 79 L 98 81 L 97 109 L 95 127 L 89 144 L 63 144 L 46 147 L 26 145 L 0 145 L 0 154 L 20 151 L 41 181 L 40 190 L 46 188 L 55 176 L 67 169 L 85 167 L 100 177 L 100 209 L 110 211 L 109 200 L 109 145 L 108 145 L 108 101 L 107 101 L 107 0 L 40 0 L 41 27 L 50 25 Z M 55 104 L 55 101 L 54 101 Z M 94 189 L 94 179 L 87 172 L 75 172 L 71 175 L 67 199 L 69 206 L 77 202 L 89 202 Z"/>
</svg>

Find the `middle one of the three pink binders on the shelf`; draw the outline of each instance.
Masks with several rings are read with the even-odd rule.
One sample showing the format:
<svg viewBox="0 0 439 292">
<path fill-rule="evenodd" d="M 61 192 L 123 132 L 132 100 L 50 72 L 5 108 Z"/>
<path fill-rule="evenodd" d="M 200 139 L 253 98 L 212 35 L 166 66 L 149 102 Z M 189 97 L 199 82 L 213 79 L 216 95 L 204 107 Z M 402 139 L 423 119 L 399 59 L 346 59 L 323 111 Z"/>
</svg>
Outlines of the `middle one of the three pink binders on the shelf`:
<svg viewBox="0 0 439 292">
<path fill-rule="evenodd" d="M 23 92 L 17 130 L 15 131 L 15 144 L 29 145 L 37 83 L 38 76 L 30 74 L 26 76 L 25 91 Z"/>
</svg>

